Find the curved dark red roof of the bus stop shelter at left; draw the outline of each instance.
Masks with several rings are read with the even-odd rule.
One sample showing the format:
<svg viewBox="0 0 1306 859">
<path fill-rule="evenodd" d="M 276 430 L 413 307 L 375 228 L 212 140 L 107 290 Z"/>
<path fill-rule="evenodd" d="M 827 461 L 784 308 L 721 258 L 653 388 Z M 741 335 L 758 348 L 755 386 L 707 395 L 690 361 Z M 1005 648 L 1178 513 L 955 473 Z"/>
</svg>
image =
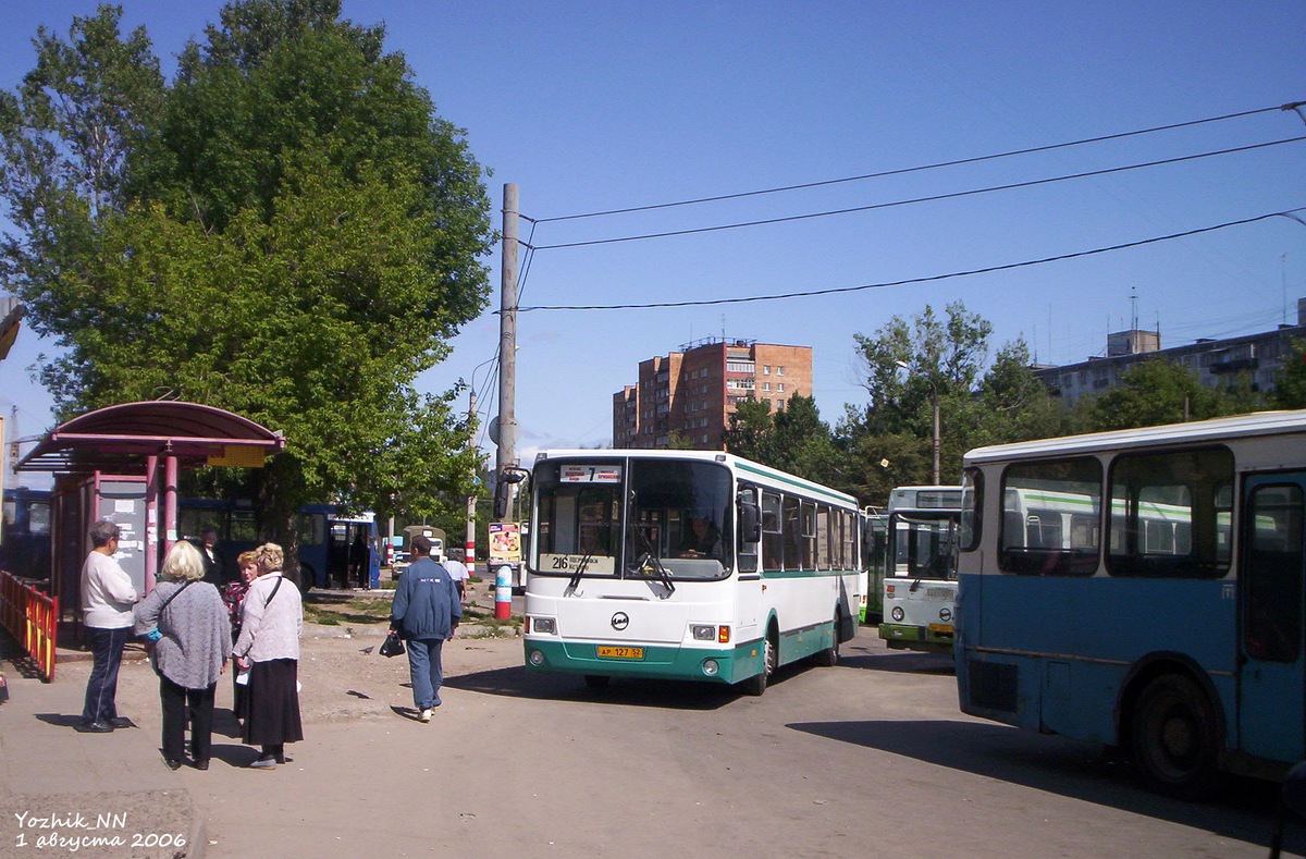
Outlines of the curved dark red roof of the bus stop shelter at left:
<svg viewBox="0 0 1306 859">
<path fill-rule="evenodd" d="M 89 473 L 136 470 L 148 456 L 175 456 L 185 465 L 204 465 L 232 452 L 263 453 L 286 445 L 248 418 L 195 402 L 155 399 L 106 406 L 78 415 L 54 430 L 25 456 L 18 471 Z M 253 462 L 231 462 L 243 465 Z"/>
</svg>

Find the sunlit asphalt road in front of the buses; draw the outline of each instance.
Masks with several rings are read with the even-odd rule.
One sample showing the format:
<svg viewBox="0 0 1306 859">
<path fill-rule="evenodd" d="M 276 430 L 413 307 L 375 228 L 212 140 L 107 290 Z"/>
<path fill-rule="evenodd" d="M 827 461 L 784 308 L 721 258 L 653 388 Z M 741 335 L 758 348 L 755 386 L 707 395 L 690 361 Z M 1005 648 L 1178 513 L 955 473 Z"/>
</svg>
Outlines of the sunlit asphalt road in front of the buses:
<svg viewBox="0 0 1306 859">
<path fill-rule="evenodd" d="M 405 661 L 364 653 L 367 634 L 306 641 L 293 762 L 243 769 L 253 752 L 215 738 L 222 762 L 182 770 L 205 855 L 1268 852 L 1271 786 L 1237 782 L 1211 804 L 1153 796 L 1097 749 L 963 715 L 947 658 L 884 650 L 874 628 L 837 667 L 786 668 L 760 698 L 691 683 L 594 692 L 526 674 L 520 640 L 456 640 L 430 725 L 404 710 Z M 1292 829 L 1292 855 L 1303 845 Z"/>
</svg>

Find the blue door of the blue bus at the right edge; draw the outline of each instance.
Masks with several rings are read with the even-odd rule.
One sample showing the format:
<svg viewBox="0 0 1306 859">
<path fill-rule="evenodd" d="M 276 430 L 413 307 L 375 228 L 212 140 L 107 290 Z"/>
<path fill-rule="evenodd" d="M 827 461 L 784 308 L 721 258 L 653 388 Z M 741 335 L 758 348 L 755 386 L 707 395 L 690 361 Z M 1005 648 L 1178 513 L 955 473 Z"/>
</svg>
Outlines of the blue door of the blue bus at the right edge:
<svg viewBox="0 0 1306 859">
<path fill-rule="evenodd" d="M 1298 761 L 1306 757 L 1306 473 L 1250 476 L 1242 509 L 1238 745 L 1249 755 Z"/>
</svg>

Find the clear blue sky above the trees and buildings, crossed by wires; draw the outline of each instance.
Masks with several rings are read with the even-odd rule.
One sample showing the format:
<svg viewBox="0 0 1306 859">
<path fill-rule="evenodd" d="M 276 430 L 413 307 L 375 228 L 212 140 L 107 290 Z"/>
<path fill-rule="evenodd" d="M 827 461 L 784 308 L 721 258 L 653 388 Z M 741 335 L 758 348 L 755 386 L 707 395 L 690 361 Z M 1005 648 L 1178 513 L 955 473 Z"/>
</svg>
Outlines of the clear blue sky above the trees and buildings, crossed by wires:
<svg viewBox="0 0 1306 859">
<path fill-rule="evenodd" d="M 124 0 L 171 57 L 218 3 Z M 498 210 L 552 218 L 855 176 L 1182 123 L 1306 99 L 1306 4 L 448 3 L 345 0 L 384 21 L 440 114 L 462 127 Z M 5 4 L 0 86 L 33 65 L 38 25 L 67 33 L 81 0 Z M 1306 136 L 1293 112 L 802 192 L 542 223 L 537 247 L 868 206 Z M 680 302 L 850 287 L 1075 253 L 1306 206 L 1306 142 L 939 202 L 771 226 L 538 251 L 521 304 Z M 1306 215 L 1306 213 L 1302 213 Z M 8 227 L 0 222 L 0 227 Z M 524 238 L 530 225 L 522 223 Z M 499 260 L 491 268 L 498 307 Z M 1042 363 L 1101 354 L 1128 328 L 1164 346 L 1296 321 L 1306 226 L 1247 226 L 1002 273 L 718 307 L 538 311 L 518 319 L 518 448 L 598 445 L 611 394 L 640 360 L 726 334 L 810 345 L 821 416 L 865 403 L 854 333 L 965 302 L 993 347 L 1024 337 Z M 491 307 L 491 309 L 494 309 Z M 422 377 L 474 380 L 498 341 L 487 312 Z M 0 363 L 0 410 L 50 428 L 25 368 Z M 803 392 L 807 393 L 807 392 Z"/>
</svg>

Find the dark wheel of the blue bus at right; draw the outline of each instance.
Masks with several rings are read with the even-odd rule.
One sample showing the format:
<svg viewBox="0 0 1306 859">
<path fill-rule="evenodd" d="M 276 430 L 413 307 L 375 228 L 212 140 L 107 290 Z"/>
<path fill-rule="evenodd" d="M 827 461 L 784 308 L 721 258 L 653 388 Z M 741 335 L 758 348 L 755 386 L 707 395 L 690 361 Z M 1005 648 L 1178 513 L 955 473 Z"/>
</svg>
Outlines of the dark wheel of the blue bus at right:
<svg viewBox="0 0 1306 859">
<path fill-rule="evenodd" d="M 1148 787 L 1178 799 L 1209 796 L 1218 781 L 1220 736 L 1207 696 L 1188 678 L 1152 680 L 1134 706 L 1134 764 Z"/>
</svg>

